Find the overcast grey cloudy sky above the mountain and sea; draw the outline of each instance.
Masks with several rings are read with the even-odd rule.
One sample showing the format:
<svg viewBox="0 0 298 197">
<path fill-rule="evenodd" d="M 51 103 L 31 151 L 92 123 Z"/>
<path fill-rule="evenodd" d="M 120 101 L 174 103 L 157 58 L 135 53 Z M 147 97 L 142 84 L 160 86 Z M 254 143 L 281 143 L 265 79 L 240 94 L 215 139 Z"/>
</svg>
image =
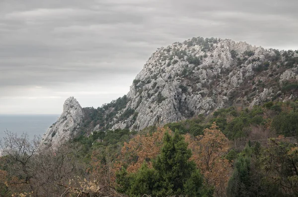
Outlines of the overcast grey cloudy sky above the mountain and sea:
<svg viewBox="0 0 298 197">
<path fill-rule="evenodd" d="M 0 0 L 0 114 L 60 114 L 128 93 L 157 48 L 192 37 L 298 49 L 298 0 Z"/>
</svg>

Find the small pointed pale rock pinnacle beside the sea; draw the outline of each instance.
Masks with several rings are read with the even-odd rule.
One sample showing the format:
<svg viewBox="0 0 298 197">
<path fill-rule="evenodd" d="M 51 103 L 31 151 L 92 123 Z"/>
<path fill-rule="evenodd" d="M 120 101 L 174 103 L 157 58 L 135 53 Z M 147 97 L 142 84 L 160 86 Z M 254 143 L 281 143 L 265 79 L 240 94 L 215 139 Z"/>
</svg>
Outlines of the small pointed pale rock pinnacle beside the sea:
<svg viewBox="0 0 298 197">
<path fill-rule="evenodd" d="M 43 134 L 41 145 L 58 146 L 76 135 L 84 117 L 82 107 L 74 97 L 68 98 L 63 105 L 63 112 L 48 131 Z"/>
</svg>

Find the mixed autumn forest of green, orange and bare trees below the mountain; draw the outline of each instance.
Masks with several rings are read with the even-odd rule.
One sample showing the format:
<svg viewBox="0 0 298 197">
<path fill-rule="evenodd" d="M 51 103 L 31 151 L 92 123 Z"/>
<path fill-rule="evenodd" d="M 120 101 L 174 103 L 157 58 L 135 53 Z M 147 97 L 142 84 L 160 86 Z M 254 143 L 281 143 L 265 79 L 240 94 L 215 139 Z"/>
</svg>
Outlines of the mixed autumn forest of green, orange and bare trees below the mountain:
<svg viewBox="0 0 298 197">
<path fill-rule="evenodd" d="M 297 137 L 298 101 L 93 131 L 59 147 L 6 131 L 0 197 L 297 197 Z"/>
</svg>

